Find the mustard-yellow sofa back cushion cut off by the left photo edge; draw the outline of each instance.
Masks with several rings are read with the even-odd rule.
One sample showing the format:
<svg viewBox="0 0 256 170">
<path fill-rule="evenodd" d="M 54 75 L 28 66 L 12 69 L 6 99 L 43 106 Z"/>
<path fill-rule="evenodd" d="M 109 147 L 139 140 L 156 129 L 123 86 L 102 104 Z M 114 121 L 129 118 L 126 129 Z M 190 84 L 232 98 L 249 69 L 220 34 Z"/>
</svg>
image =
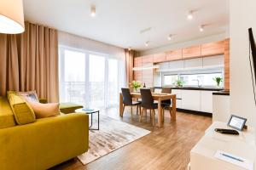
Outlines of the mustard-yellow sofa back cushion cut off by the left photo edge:
<svg viewBox="0 0 256 170">
<path fill-rule="evenodd" d="M 0 96 L 0 129 L 16 126 L 14 113 L 6 97 Z"/>
</svg>

